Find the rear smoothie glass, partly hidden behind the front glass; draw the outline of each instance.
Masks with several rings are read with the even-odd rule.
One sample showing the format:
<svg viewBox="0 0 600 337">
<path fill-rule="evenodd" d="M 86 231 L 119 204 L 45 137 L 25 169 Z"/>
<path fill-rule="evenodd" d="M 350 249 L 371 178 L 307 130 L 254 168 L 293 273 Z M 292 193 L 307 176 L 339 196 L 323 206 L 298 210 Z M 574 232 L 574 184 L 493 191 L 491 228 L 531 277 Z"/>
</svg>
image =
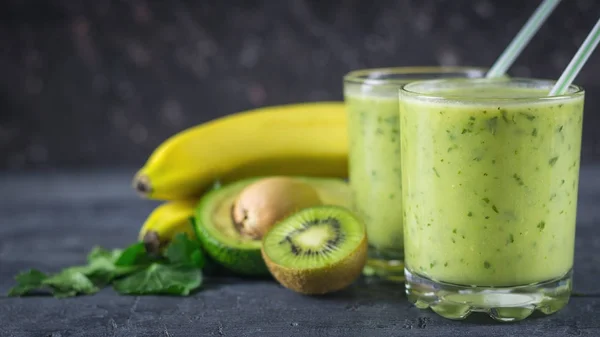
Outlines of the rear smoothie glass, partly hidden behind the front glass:
<svg viewBox="0 0 600 337">
<path fill-rule="evenodd" d="M 357 70 L 344 77 L 353 207 L 369 241 L 366 273 L 404 280 L 398 90 L 415 80 L 484 74 L 485 69 L 473 67 L 400 67 Z"/>
</svg>

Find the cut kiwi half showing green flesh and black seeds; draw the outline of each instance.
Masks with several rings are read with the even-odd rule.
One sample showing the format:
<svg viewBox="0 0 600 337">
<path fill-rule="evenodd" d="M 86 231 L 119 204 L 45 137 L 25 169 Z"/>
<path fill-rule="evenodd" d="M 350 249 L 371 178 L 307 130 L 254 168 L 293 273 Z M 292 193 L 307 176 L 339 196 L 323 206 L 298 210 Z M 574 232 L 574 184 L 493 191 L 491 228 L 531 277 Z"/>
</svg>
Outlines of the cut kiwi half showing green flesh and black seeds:
<svg viewBox="0 0 600 337">
<path fill-rule="evenodd" d="M 341 290 L 367 261 L 364 225 L 339 206 L 305 208 L 263 237 L 262 256 L 284 287 L 303 294 Z"/>
</svg>

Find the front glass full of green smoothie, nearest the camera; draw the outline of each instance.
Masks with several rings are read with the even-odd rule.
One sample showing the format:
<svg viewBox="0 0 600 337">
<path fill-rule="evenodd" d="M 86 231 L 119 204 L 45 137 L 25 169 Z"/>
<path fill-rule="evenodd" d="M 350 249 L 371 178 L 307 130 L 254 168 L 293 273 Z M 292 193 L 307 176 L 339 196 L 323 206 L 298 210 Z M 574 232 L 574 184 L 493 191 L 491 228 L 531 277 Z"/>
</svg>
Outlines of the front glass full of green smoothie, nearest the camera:
<svg viewBox="0 0 600 337">
<path fill-rule="evenodd" d="M 406 292 L 499 321 L 569 301 L 584 91 L 553 81 L 419 81 L 400 90 Z"/>
</svg>

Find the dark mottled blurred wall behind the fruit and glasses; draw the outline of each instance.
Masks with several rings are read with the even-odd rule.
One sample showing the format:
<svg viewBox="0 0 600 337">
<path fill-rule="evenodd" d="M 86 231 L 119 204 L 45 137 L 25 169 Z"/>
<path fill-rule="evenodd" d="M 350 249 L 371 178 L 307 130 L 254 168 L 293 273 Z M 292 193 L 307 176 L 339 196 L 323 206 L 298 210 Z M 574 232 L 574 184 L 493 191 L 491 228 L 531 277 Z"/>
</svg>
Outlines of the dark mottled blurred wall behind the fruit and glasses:
<svg viewBox="0 0 600 337">
<path fill-rule="evenodd" d="M 138 166 L 169 135 L 263 105 L 341 100 L 363 67 L 490 66 L 539 1 L 0 4 L 0 169 Z M 512 68 L 557 78 L 600 14 L 562 1 Z M 583 163 L 600 161 L 600 51 Z"/>
</svg>

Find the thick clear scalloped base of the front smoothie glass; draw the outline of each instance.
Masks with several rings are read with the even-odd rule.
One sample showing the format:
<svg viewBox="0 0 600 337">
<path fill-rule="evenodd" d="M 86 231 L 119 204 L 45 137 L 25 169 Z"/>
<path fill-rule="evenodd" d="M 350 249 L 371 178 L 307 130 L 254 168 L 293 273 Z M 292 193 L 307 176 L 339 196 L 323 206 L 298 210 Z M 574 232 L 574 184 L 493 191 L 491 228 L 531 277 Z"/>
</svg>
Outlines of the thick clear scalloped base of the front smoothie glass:
<svg viewBox="0 0 600 337">
<path fill-rule="evenodd" d="M 516 287 L 469 287 L 432 281 L 405 270 L 406 295 L 417 308 L 431 308 L 448 319 L 465 319 L 472 312 L 487 313 L 501 322 L 527 318 L 535 310 L 546 315 L 569 302 L 572 271 L 560 278 Z"/>
</svg>

